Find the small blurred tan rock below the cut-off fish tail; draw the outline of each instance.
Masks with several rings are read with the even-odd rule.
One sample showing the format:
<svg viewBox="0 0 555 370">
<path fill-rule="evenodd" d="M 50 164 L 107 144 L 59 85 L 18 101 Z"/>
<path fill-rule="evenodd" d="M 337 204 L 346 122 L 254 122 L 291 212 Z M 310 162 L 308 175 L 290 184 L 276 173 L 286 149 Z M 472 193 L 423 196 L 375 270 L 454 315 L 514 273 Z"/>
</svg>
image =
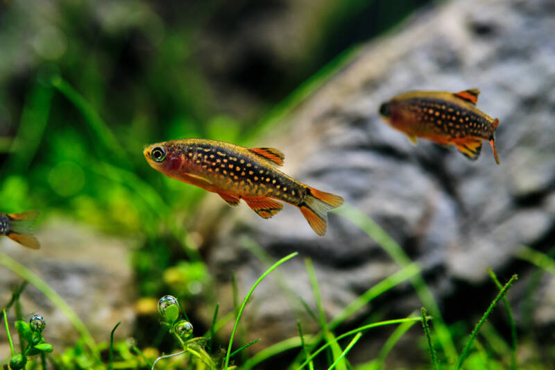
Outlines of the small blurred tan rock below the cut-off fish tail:
<svg viewBox="0 0 555 370">
<path fill-rule="evenodd" d="M 129 335 L 135 321 L 133 271 L 128 263 L 128 246 L 120 239 L 106 237 L 65 220 L 47 221 L 37 230 L 41 249 L 26 249 L 6 237 L 0 251 L 33 271 L 52 287 L 85 323 L 98 342 L 110 339 L 110 331 L 122 321 L 117 337 Z M 7 303 L 23 279 L 0 265 L 0 302 Z M 27 285 L 21 296 L 28 319 L 40 313 L 46 321 L 44 337 L 60 350 L 79 337 L 65 315 L 36 287 Z M 10 323 L 15 320 L 11 311 Z M 6 342 L 6 331 L 0 331 Z M 6 353 L 6 352 L 3 352 Z"/>
</svg>

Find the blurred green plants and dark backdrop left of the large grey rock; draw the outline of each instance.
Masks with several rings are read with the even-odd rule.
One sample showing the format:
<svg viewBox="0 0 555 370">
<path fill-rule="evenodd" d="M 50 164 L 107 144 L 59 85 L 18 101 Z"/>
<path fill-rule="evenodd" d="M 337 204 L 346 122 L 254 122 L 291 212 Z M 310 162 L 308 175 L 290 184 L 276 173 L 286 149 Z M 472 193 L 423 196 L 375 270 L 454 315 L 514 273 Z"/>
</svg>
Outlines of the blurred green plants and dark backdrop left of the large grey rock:
<svg viewBox="0 0 555 370">
<path fill-rule="evenodd" d="M 163 271 L 198 259 L 186 230 L 205 193 L 153 171 L 144 146 L 254 141 L 426 2 L 2 1 L 1 211 L 141 240 L 137 289 L 156 296 Z"/>
</svg>

